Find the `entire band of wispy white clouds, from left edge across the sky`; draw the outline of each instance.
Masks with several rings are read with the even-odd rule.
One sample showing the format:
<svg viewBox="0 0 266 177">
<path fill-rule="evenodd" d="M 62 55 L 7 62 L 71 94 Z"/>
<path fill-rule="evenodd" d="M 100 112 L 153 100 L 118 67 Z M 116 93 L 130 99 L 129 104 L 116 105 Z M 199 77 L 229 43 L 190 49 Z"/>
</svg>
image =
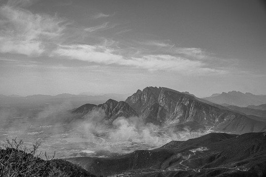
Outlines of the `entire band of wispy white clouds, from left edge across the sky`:
<svg viewBox="0 0 266 177">
<path fill-rule="evenodd" d="M 93 35 L 92 41 L 95 42 L 89 43 L 89 35 L 83 35 L 85 37 L 82 41 L 68 39 L 64 44 L 63 31 L 67 33 L 66 36 L 71 36 L 69 30 L 66 30 L 68 27 L 66 21 L 57 16 L 33 14 L 23 9 L 33 1 L 9 0 L 6 5 L 0 7 L 0 53 L 27 56 L 43 54 L 51 58 L 77 59 L 96 65 L 117 65 L 131 69 L 164 70 L 182 74 L 225 72 L 223 68 L 213 64 L 210 54 L 204 50 L 176 47 L 169 40 L 146 40 L 134 43 L 133 40 L 119 42 L 113 38 Z M 99 13 L 94 18 L 109 16 L 111 15 Z M 83 32 L 80 33 L 87 34 L 114 27 L 115 25 L 105 22 L 86 29 L 81 26 L 76 27 L 75 31 L 80 30 Z M 115 34 L 131 29 L 119 30 Z M 59 38 L 60 42 L 56 41 L 56 38 Z"/>
</svg>

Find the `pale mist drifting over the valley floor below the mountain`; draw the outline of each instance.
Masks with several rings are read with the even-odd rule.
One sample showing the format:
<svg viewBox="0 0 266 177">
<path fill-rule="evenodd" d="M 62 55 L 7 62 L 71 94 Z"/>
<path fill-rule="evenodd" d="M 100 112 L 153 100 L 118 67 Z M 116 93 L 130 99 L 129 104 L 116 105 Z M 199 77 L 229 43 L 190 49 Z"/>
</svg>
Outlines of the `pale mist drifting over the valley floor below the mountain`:
<svg viewBox="0 0 266 177">
<path fill-rule="evenodd" d="M 70 102 L 47 104 L 37 113 L 1 108 L 0 140 L 22 139 L 28 146 L 40 142 L 41 151 L 48 154 L 56 151 L 58 158 L 108 157 L 137 149 L 159 148 L 173 140 L 184 141 L 206 133 L 192 132 L 189 127 L 177 132 L 175 127 L 146 123 L 140 117 L 118 117 L 110 121 L 100 108 L 86 115 L 72 111 Z"/>
</svg>

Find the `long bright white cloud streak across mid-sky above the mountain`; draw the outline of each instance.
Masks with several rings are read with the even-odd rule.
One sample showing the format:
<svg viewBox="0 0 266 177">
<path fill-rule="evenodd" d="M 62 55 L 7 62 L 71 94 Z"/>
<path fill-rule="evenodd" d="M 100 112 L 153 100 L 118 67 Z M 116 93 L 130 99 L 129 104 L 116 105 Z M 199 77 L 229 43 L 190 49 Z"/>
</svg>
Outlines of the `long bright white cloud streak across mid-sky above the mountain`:
<svg viewBox="0 0 266 177">
<path fill-rule="evenodd" d="M 190 60 L 171 55 L 142 55 L 139 57 L 124 57 L 115 54 L 116 51 L 110 47 L 100 45 L 60 45 L 53 52 L 53 56 L 67 57 L 104 65 L 116 64 L 120 66 L 136 67 L 150 71 L 167 70 L 177 71 L 184 74 L 208 74 L 222 72 L 211 69 L 199 60 Z"/>
</svg>

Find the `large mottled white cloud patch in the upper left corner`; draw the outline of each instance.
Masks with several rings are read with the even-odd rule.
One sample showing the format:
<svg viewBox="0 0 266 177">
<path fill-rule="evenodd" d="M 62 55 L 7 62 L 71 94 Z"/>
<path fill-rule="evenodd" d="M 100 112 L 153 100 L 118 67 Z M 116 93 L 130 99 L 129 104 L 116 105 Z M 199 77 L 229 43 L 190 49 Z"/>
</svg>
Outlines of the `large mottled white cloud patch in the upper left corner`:
<svg viewBox="0 0 266 177">
<path fill-rule="evenodd" d="M 31 2 L 13 0 L 0 7 L 1 53 L 40 55 L 45 51 L 45 45 L 65 29 L 65 21 L 56 16 L 33 14 L 17 7 Z"/>
</svg>

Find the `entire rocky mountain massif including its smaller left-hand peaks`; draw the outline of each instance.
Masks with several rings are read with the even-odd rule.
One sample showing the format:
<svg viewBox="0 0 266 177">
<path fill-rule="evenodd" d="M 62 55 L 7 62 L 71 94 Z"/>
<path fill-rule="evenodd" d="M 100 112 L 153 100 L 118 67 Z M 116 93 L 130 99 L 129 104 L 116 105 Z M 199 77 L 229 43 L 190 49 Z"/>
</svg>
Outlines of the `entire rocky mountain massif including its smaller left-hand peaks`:
<svg viewBox="0 0 266 177">
<path fill-rule="evenodd" d="M 266 121 L 247 117 L 245 114 L 230 110 L 221 105 L 202 102 L 191 94 L 173 89 L 147 87 L 137 90 L 125 102 L 108 100 L 101 105 L 87 104 L 73 113 L 89 113 L 102 108 L 106 119 L 112 122 L 119 116 L 139 116 L 145 123 L 180 130 L 183 127 L 198 131 L 199 129 L 233 133 L 266 131 Z M 197 129 L 195 129 L 197 127 Z"/>
</svg>

